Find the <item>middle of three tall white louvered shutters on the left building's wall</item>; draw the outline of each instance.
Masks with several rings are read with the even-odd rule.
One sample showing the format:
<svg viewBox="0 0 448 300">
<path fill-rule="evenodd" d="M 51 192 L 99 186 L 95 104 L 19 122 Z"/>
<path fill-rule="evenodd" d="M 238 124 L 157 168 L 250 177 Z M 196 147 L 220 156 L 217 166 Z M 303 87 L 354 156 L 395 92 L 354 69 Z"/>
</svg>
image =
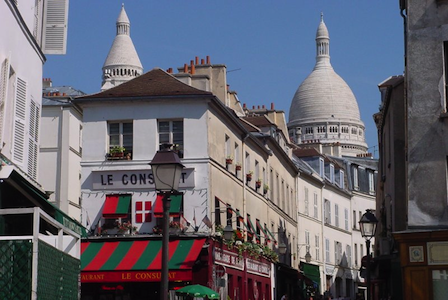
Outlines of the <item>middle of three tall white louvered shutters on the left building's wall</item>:
<svg viewBox="0 0 448 300">
<path fill-rule="evenodd" d="M 26 95 L 27 84 L 24 80 L 17 78 L 16 101 L 14 106 L 14 137 L 12 157 L 15 163 L 22 164 L 25 148 L 25 118 L 26 118 Z"/>
</svg>

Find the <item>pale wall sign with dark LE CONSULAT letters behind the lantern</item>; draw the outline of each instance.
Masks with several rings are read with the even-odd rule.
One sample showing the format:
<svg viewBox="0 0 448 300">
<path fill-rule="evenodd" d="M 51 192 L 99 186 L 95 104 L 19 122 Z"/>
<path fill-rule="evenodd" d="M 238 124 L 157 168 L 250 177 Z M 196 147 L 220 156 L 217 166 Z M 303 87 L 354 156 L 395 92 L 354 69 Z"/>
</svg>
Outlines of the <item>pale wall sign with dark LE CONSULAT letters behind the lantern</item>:
<svg viewBox="0 0 448 300">
<path fill-rule="evenodd" d="M 108 170 L 92 172 L 94 190 L 126 190 L 154 188 L 151 169 L 144 170 Z M 180 177 L 179 188 L 194 187 L 194 169 L 184 169 Z"/>
</svg>

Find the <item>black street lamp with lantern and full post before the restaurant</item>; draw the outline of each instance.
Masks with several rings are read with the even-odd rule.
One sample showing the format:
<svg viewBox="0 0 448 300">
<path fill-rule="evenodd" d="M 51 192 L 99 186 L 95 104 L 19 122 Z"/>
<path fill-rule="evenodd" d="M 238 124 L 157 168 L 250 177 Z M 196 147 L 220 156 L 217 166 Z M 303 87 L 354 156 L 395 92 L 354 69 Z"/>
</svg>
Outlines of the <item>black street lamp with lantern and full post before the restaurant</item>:
<svg viewBox="0 0 448 300">
<path fill-rule="evenodd" d="M 160 282 L 160 300 L 168 299 L 168 247 L 169 247 L 169 216 L 172 193 L 179 188 L 180 176 L 184 166 L 179 156 L 172 151 L 171 145 L 164 145 L 163 150 L 157 151 L 149 163 L 152 169 L 154 185 L 163 195 L 163 235 L 162 235 L 162 274 Z"/>
</svg>

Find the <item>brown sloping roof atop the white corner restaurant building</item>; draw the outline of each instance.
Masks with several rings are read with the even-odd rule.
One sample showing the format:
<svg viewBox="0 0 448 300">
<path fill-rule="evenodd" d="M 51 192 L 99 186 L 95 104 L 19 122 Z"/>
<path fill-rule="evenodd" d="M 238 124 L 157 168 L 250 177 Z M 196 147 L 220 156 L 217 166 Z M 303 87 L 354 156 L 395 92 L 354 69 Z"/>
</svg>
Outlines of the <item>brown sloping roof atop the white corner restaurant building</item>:
<svg viewBox="0 0 448 300">
<path fill-rule="evenodd" d="M 92 95 L 76 98 L 82 100 L 110 100 L 117 98 L 173 97 L 173 96 L 212 96 L 211 92 L 196 89 L 181 82 L 165 71 L 154 68 L 119 86 Z"/>
</svg>

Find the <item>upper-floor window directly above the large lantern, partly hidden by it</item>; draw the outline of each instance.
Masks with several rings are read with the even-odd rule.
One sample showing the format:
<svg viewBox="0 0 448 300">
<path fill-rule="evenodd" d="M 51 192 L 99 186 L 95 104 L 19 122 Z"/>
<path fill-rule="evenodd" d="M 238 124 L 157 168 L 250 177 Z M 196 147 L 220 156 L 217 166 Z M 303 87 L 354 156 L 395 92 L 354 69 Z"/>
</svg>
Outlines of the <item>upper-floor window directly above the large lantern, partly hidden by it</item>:
<svg viewBox="0 0 448 300">
<path fill-rule="evenodd" d="M 172 144 L 180 158 L 184 157 L 184 121 L 159 121 L 159 149 Z"/>
</svg>

